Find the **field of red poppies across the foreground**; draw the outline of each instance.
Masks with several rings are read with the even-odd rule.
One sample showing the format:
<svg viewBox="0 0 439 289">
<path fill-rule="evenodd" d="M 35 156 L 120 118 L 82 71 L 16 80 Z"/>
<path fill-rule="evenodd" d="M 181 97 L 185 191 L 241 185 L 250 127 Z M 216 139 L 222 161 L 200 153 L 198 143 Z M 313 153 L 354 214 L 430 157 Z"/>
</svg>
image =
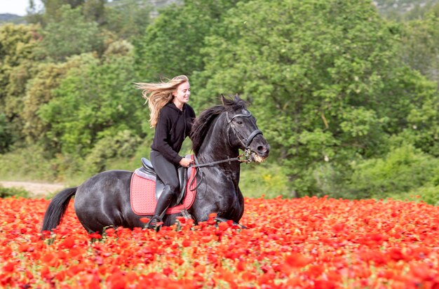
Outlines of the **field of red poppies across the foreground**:
<svg viewBox="0 0 439 289">
<path fill-rule="evenodd" d="M 41 234 L 48 202 L 0 199 L 0 287 L 439 288 L 439 208 L 425 203 L 245 199 L 248 229 L 211 215 L 100 238 L 73 202 Z"/>
</svg>

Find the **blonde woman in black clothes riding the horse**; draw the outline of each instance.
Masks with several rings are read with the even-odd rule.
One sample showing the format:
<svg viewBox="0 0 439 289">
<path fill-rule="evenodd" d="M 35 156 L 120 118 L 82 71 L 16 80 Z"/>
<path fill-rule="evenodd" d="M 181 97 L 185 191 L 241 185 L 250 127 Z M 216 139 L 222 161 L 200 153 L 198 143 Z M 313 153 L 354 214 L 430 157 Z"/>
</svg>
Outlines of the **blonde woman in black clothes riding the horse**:
<svg viewBox="0 0 439 289">
<path fill-rule="evenodd" d="M 187 76 L 175 76 L 168 82 L 135 83 L 143 90 L 142 96 L 147 100 L 151 112 L 149 123 L 156 128 L 151 145 L 151 163 L 156 174 L 165 184 L 163 193 L 157 201 L 154 216 L 147 227 L 154 229 L 161 222 L 163 212 L 168 208 L 180 187 L 178 166 L 189 167 L 191 159 L 178 153 L 184 139 L 191 131 L 195 112 L 187 104 L 191 95 L 191 86 Z"/>
</svg>

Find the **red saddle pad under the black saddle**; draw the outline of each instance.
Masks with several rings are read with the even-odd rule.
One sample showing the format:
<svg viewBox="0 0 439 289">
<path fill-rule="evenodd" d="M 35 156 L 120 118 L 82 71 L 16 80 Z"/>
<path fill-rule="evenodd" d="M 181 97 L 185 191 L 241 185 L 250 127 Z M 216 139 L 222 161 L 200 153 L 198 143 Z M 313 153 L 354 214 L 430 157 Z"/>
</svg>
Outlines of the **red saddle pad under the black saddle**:
<svg viewBox="0 0 439 289">
<path fill-rule="evenodd" d="M 166 214 L 168 215 L 180 213 L 184 208 L 189 209 L 194 203 L 196 190 L 191 191 L 191 189 L 196 187 L 196 179 L 192 182 L 195 177 L 196 169 L 189 168 L 189 170 L 191 170 L 191 175 L 187 181 L 186 196 L 184 196 L 183 203 L 173 208 L 168 208 L 168 210 L 166 210 Z M 131 208 L 134 213 L 137 215 L 154 215 L 157 203 L 156 182 L 133 173 L 130 185 L 130 199 Z"/>
</svg>

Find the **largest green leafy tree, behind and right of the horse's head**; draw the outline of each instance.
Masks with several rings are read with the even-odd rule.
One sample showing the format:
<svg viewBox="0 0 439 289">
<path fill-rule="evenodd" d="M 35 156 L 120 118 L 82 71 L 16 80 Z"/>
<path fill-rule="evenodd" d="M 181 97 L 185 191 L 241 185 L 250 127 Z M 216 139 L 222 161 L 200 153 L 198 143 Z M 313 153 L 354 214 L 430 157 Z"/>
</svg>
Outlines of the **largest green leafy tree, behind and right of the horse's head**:
<svg viewBox="0 0 439 289">
<path fill-rule="evenodd" d="M 208 37 L 194 100 L 250 99 L 292 195 L 319 193 L 314 171 L 384 154 L 420 102 L 421 82 L 403 87 L 414 74 L 396 62 L 398 29 L 368 2 L 240 3 Z"/>
</svg>

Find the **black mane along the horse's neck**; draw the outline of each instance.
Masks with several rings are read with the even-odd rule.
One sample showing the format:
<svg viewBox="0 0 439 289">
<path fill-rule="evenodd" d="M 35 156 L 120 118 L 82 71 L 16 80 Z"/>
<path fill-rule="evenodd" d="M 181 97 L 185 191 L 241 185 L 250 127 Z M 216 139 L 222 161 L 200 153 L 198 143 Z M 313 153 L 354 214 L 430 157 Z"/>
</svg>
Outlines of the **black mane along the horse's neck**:
<svg viewBox="0 0 439 289">
<path fill-rule="evenodd" d="M 225 111 L 234 112 L 238 109 L 246 108 L 245 101 L 239 97 L 235 97 L 234 100 L 222 97 L 221 100 L 223 105 L 215 105 L 205 109 L 195 119 L 191 129 L 192 150 L 194 154 L 198 154 L 210 126 L 212 126 L 212 123 L 215 122 L 219 114 Z"/>
</svg>

